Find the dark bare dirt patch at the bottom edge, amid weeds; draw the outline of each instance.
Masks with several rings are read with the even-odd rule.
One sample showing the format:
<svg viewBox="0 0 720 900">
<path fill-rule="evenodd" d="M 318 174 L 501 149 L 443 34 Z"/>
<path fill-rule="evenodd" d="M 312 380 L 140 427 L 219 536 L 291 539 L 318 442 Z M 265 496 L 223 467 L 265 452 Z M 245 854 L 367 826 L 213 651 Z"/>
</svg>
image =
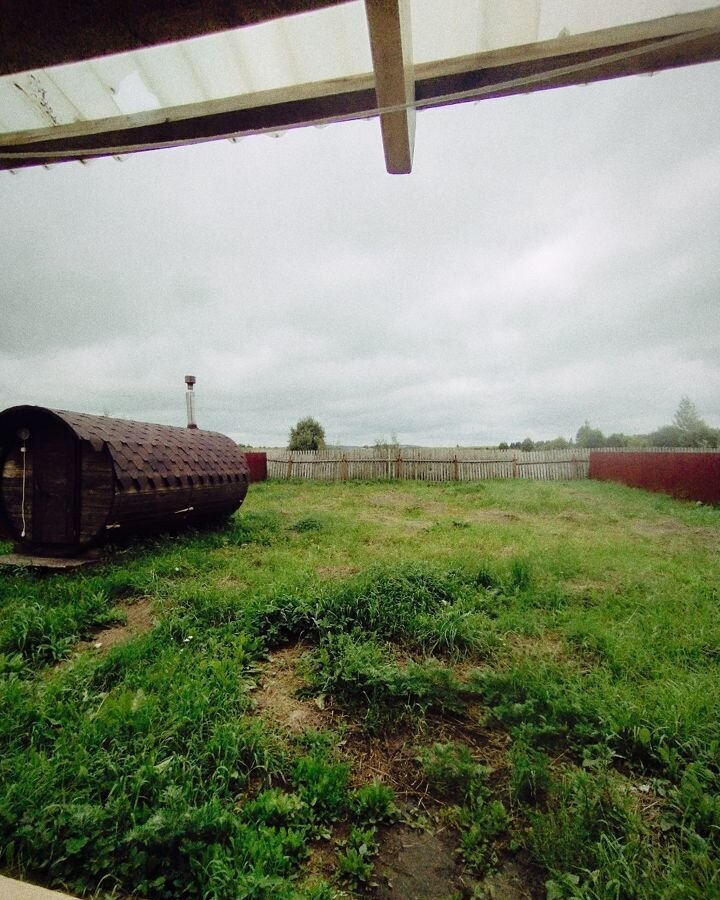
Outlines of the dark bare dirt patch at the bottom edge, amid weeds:
<svg viewBox="0 0 720 900">
<path fill-rule="evenodd" d="M 447 900 L 462 891 L 462 868 L 456 840 L 447 831 L 389 831 L 375 865 L 378 887 L 371 896 L 383 900 Z"/>
</svg>

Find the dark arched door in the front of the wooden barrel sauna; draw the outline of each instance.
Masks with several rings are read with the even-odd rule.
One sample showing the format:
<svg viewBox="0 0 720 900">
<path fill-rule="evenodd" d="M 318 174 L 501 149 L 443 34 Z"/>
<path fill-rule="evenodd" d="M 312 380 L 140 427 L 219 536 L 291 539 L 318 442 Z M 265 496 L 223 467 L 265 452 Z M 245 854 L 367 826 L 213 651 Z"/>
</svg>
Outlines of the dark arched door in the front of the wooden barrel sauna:
<svg viewBox="0 0 720 900">
<path fill-rule="evenodd" d="M 43 423 L 31 434 L 34 544 L 77 543 L 79 484 L 77 446 L 59 423 Z"/>
</svg>

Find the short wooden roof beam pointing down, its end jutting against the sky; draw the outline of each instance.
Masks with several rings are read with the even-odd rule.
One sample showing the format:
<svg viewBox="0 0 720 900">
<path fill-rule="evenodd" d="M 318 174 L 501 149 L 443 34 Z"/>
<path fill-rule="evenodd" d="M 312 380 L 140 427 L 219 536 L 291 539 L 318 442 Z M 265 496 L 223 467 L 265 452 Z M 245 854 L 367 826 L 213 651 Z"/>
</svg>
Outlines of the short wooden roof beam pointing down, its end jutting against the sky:
<svg viewBox="0 0 720 900">
<path fill-rule="evenodd" d="M 410 0 L 365 0 L 365 10 L 378 107 L 402 107 L 380 114 L 385 167 L 391 175 L 408 175 L 415 144 Z"/>
</svg>

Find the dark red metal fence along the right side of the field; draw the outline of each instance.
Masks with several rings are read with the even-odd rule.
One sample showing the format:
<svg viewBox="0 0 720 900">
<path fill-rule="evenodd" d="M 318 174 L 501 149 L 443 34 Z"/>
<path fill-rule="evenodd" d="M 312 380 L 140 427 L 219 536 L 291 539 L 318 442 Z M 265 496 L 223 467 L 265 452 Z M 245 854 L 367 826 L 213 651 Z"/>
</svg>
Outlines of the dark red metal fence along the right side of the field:
<svg viewBox="0 0 720 900">
<path fill-rule="evenodd" d="M 590 478 L 671 494 L 681 500 L 720 503 L 720 453 L 627 451 L 590 453 Z"/>
</svg>

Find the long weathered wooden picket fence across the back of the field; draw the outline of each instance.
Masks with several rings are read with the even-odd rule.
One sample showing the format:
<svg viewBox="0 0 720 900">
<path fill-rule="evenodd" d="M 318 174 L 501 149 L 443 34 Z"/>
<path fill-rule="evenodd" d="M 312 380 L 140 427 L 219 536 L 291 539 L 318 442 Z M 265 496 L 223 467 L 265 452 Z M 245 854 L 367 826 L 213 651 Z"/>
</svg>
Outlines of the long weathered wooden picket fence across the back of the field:
<svg viewBox="0 0 720 900">
<path fill-rule="evenodd" d="M 268 448 L 269 479 L 307 481 L 486 481 L 588 477 L 590 451 L 472 450 L 467 448 L 352 448 L 297 451 Z"/>
</svg>

